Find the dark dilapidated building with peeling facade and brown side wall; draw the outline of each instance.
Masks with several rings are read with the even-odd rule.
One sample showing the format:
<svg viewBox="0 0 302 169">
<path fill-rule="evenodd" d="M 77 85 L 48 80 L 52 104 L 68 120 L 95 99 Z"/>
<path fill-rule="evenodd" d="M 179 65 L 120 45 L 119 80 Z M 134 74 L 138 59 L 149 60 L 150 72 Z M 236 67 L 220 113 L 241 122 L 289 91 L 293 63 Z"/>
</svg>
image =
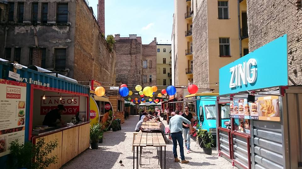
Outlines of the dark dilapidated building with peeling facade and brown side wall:
<svg viewBox="0 0 302 169">
<path fill-rule="evenodd" d="M 115 82 L 115 48 L 85 0 L 0 1 L 0 19 L 1 58 L 78 81 Z"/>
</svg>

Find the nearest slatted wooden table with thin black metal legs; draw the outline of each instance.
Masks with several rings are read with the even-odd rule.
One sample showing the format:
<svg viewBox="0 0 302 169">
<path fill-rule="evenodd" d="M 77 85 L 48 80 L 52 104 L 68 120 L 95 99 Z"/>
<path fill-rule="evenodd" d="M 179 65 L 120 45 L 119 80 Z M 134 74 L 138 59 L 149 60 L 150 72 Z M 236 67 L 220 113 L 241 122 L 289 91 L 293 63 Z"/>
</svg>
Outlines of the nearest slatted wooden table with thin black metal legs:
<svg viewBox="0 0 302 169">
<path fill-rule="evenodd" d="M 166 143 L 161 133 L 138 133 L 133 142 L 133 148 L 137 147 L 137 160 L 136 160 L 136 168 L 138 169 L 138 163 L 142 166 L 142 148 L 146 146 L 158 147 L 158 162 L 161 168 L 163 168 L 162 164 L 162 154 L 163 147 L 165 148 L 164 152 L 164 168 L 166 168 Z M 138 147 L 140 148 L 140 156 L 138 156 Z M 133 151 L 133 169 L 134 169 L 134 156 L 135 153 Z M 157 155 L 156 155 L 157 156 Z M 160 160 L 159 160 L 160 159 Z M 140 160 L 140 162 L 138 162 Z"/>
</svg>

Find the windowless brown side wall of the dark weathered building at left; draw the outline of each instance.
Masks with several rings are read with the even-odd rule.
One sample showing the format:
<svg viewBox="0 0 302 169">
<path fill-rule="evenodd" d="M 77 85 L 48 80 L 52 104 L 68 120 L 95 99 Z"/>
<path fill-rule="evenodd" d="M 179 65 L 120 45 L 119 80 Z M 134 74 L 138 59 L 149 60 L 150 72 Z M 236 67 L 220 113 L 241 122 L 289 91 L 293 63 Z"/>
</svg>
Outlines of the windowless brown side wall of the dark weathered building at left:
<svg viewBox="0 0 302 169">
<path fill-rule="evenodd" d="M 109 52 L 98 22 L 83 0 L 77 0 L 76 3 L 75 27 L 74 78 L 115 83 L 115 49 Z"/>
</svg>

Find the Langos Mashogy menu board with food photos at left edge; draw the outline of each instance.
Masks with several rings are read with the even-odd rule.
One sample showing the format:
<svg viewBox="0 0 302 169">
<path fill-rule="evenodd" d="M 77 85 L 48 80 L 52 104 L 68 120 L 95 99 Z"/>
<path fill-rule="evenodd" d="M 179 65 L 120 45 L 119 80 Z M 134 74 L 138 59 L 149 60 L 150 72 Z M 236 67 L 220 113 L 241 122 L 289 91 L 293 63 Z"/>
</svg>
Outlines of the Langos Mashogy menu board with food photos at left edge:
<svg viewBox="0 0 302 169">
<path fill-rule="evenodd" d="M 9 154 L 10 142 L 25 138 L 26 83 L 0 79 L 0 157 Z"/>
</svg>

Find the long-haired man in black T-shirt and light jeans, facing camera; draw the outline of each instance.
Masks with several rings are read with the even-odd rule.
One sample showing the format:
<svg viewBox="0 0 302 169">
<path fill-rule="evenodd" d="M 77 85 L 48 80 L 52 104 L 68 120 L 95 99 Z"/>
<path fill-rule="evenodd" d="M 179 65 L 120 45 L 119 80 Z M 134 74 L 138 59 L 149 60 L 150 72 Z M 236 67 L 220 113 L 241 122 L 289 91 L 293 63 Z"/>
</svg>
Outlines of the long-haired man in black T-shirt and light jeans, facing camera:
<svg viewBox="0 0 302 169">
<path fill-rule="evenodd" d="M 189 112 L 189 107 L 185 107 L 185 112 L 182 113 L 182 116 L 186 118 L 187 120 L 191 121 L 193 119 L 192 113 Z M 185 145 L 187 147 L 187 153 L 190 153 L 190 139 L 191 139 L 191 134 L 190 134 L 190 129 L 189 125 L 185 122 L 182 122 L 182 134 L 183 138 L 185 139 Z"/>
</svg>

